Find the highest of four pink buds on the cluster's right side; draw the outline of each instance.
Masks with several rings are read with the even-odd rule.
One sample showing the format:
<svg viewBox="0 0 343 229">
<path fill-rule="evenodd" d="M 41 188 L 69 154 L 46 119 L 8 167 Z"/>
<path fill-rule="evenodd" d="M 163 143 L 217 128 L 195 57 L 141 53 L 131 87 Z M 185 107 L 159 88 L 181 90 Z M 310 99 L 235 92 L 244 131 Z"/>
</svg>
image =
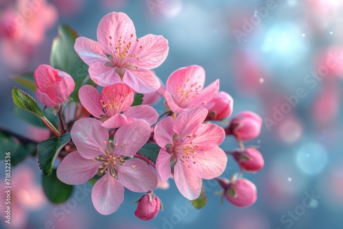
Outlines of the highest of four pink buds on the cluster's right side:
<svg viewBox="0 0 343 229">
<path fill-rule="evenodd" d="M 220 91 L 211 99 L 211 101 L 209 101 L 209 103 L 206 104 L 205 108 L 209 110 L 207 119 L 226 119 L 230 117 L 233 112 L 233 97 L 224 91 Z"/>
</svg>

